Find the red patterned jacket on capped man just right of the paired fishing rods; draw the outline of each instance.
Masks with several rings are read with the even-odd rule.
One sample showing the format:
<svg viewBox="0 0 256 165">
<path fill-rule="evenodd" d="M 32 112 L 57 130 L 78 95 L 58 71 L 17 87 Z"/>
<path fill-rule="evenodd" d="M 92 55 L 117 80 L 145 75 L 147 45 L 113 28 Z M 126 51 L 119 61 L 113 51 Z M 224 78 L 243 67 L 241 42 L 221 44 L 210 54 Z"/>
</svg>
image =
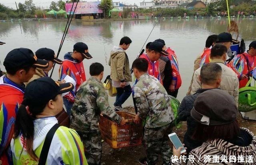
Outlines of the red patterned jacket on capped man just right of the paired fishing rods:
<svg viewBox="0 0 256 165">
<path fill-rule="evenodd" d="M 77 91 L 78 87 L 86 81 L 83 62 L 76 62 L 76 60 L 71 57 L 71 53 L 65 54 L 63 64 L 59 69 L 60 80 L 63 80 L 66 75 L 76 81 L 75 91 Z M 68 95 L 65 95 L 65 98 L 70 102 L 74 102 L 75 93 L 70 92 Z"/>
</svg>

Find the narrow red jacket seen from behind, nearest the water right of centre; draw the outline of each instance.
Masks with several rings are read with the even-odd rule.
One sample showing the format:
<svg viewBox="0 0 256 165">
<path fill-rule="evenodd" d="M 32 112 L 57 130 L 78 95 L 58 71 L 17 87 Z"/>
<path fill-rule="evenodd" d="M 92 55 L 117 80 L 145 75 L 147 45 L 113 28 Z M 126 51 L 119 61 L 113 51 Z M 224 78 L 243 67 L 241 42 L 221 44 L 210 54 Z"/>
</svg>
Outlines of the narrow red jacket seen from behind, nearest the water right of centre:
<svg viewBox="0 0 256 165">
<path fill-rule="evenodd" d="M 174 50 L 172 50 L 171 48 L 167 48 L 166 52 L 169 53 L 169 55 L 167 57 L 171 61 L 172 80 L 176 80 L 175 89 L 179 89 L 181 84 L 182 84 L 182 80 L 181 80 L 181 77 L 180 77 L 180 71 L 179 71 L 177 56 L 176 56 Z"/>
</svg>

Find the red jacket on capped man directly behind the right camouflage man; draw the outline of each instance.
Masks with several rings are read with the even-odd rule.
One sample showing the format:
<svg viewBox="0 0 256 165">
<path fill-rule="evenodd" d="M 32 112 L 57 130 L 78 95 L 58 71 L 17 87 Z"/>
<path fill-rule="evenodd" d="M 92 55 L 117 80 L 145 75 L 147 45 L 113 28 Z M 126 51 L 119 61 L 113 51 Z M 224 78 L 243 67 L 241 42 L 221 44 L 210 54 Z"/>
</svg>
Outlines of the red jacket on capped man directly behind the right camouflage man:
<svg viewBox="0 0 256 165">
<path fill-rule="evenodd" d="M 151 75 L 151 76 L 154 76 L 155 78 L 157 78 L 162 83 L 162 78 L 161 78 L 160 70 L 159 70 L 159 62 L 158 61 L 152 62 L 148 58 L 147 54 L 142 54 L 140 56 L 140 58 L 144 58 L 148 61 L 148 74 Z"/>
</svg>

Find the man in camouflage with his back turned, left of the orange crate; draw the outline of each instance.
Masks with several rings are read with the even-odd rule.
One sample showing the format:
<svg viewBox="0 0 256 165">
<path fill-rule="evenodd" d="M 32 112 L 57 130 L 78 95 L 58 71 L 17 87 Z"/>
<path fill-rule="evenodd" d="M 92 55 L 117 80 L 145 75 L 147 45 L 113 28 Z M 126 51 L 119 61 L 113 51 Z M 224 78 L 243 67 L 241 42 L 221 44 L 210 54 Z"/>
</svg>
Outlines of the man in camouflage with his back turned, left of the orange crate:
<svg viewBox="0 0 256 165">
<path fill-rule="evenodd" d="M 88 165 L 100 165 L 102 156 L 101 134 L 98 127 L 100 113 L 113 121 L 124 125 L 126 120 L 120 117 L 108 103 L 108 94 L 101 82 L 104 67 L 100 63 L 90 66 L 90 79 L 82 83 L 76 94 L 71 111 L 71 125 L 80 135 Z"/>
</svg>

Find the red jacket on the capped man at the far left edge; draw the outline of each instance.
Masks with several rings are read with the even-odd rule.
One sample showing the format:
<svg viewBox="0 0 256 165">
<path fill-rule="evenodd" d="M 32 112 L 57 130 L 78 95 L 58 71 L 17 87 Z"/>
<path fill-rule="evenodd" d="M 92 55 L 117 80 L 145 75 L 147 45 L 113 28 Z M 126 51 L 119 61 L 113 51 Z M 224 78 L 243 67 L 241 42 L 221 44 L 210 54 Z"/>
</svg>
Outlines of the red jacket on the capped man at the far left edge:
<svg viewBox="0 0 256 165">
<path fill-rule="evenodd" d="M 0 161 L 2 165 L 11 164 L 11 155 L 7 148 L 14 135 L 14 123 L 19 105 L 23 101 L 24 91 L 13 85 L 4 83 L 4 77 L 0 78 Z"/>
</svg>

